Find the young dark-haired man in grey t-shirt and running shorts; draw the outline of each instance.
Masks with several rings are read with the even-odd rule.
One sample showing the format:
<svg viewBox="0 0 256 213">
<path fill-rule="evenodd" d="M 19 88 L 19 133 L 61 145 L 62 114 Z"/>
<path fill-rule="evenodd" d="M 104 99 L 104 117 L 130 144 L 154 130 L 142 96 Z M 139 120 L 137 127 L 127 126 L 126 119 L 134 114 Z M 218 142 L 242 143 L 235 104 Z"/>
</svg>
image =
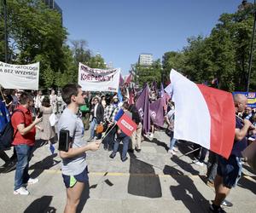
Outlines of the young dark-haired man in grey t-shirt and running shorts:
<svg viewBox="0 0 256 213">
<path fill-rule="evenodd" d="M 60 137 L 59 154 L 62 159 L 61 171 L 64 184 L 67 188 L 67 203 L 64 212 L 76 212 L 80 196 L 84 190 L 84 183 L 89 181 L 86 163 L 86 152 L 99 149 L 101 141 L 84 141 L 84 124 L 78 116 L 79 106 L 84 104 L 84 95 L 79 84 L 69 83 L 61 92 L 67 108 L 61 114 L 58 123 L 59 135 L 68 130 L 70 141 L 62 141 Z M 69 148 L 62 149 L 61 144 L 67 142 Z"/>
</svg>

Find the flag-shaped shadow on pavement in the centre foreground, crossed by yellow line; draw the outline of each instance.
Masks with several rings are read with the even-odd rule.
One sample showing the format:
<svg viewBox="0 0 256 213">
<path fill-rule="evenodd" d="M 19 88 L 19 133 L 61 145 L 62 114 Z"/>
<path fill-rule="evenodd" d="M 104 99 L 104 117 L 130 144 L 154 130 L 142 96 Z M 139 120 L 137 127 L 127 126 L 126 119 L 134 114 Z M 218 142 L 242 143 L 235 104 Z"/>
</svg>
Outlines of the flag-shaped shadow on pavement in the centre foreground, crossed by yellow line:
<svg viewBox="0 0 256 213">
<path fill-rule="evenodd" d="M 128 193 L 147 198 L 161 198 L 160 178 L 155 175 L 153 165 L 147 164 L 130 154 L 130 177 Z"/>
</svg>

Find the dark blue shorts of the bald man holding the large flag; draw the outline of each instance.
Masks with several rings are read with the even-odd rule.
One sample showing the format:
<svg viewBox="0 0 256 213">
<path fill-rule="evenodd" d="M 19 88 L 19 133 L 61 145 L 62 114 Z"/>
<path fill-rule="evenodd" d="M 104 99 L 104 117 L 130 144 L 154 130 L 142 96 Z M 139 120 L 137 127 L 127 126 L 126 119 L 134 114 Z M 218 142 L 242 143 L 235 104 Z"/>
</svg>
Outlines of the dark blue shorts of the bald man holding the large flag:
<svg viewBox="0 0 256 213">
<path fill-rule="evenodd" d="M 219 156 L 217 174 L 223 177 L 224 187 L 236 187 L 241 177 L 241 158 L 235 155 L 230 155 L 228 159 Z"/>
</svg>

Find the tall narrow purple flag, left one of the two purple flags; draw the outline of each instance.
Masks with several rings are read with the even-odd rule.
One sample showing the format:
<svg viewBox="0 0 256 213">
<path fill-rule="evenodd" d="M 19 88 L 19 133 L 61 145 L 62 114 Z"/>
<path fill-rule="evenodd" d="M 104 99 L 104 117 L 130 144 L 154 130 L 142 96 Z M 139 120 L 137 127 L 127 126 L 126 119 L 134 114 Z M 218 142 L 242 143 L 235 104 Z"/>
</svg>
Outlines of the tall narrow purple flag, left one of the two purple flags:
<svg viewBox="0 0 256 213">
<path fill-rule="evenodd" d="M 143 130 L 148 133 L 150 130 L 150 116 L 149 116 L 149 87 L 148 83 L 144 87 L 141 95 L 138 97 L 136 102 L 137 110 L 143 121 Z"/>
</svg>

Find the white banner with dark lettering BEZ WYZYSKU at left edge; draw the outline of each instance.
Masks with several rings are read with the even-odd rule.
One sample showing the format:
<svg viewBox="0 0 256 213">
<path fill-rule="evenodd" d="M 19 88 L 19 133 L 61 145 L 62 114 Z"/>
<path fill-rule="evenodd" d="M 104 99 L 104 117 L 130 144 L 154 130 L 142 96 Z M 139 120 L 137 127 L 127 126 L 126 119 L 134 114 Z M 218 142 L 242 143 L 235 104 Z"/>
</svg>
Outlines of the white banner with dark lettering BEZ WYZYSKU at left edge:
<svg viewBox="0 0 256 213">
<path fill-rule="evenodd" d="M 0 84 L 4 89 L 38 89 L 39 62 L 11 65 L 0 61 Z"/>
</svg>

